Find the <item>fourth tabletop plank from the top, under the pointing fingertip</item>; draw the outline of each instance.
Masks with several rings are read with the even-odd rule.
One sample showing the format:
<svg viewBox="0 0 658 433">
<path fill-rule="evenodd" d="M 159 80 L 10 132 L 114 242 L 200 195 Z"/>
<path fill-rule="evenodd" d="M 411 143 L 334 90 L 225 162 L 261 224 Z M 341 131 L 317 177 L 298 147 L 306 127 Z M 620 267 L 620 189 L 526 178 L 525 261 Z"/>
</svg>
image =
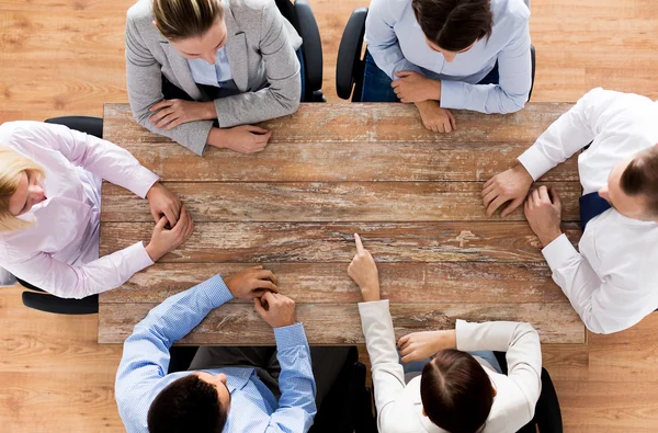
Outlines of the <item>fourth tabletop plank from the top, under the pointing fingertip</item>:
<svg viewBox="0 0 658 433">
<path fill-rule="evenodd" d="M 102 223 L 101 255 L 148 240 L 152 223 Z M 563 225 L 571 242 L 574 223 Z M 198 223 L 194 233 L 162 263 L 349 263 L 353 233 L 378 262 L 544 262 L 526 223 Z"/>
</svg>

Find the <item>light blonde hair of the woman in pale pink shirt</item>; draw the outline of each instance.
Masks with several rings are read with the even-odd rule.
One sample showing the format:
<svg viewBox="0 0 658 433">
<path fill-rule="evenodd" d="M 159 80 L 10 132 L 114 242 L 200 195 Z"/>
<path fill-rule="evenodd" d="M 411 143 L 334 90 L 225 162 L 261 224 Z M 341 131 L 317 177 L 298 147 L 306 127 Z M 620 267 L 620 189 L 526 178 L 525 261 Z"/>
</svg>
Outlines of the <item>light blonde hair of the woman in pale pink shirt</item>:
<svg viewBox="0 0 658 433">
<path fill-rule="evenodd" d="M 30 158 L 0 148 L 0 232 L 24 230 L 33 225 L 16 218 L 9 210 L 9 200 L 16 192 L 24 171 L 32 171 L 41 179 L 46 176 L 44 169 Z"/>
</svg>

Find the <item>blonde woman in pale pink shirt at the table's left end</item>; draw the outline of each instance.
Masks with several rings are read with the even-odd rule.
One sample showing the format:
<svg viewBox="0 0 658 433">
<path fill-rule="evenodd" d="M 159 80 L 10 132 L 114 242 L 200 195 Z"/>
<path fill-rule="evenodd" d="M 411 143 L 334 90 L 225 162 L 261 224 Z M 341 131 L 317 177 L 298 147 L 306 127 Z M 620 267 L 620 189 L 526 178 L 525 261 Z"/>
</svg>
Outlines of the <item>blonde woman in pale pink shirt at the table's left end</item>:
<svg viewBox="0 0 658 433">
<path fill-rule="evenodd" d="M 101 182 L 149 201 L 156 228 L 99 259 Z M 0 266 L 64 298 L 115 288 L 180 246 L 193 230 L 180 201 L 126 150 L 66 126 L 0 126 Z"/>
</svg>

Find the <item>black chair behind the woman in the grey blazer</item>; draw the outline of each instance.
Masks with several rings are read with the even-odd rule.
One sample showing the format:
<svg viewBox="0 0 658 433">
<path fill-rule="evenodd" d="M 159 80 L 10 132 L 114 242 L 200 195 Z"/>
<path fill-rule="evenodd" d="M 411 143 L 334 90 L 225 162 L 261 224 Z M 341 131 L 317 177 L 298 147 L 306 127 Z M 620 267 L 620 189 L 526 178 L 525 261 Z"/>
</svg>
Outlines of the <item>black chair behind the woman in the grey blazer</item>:
<svg viewBox="0 0 658 433">
<path fill-rule="evenodd" d="M 322 44 L 320 31 L 306 0 L 275 0 L 281 14 L 293 24 L 302 37 L 305 91 L 302 102 L 327 102 L 322 94 Z"/>
</svg>

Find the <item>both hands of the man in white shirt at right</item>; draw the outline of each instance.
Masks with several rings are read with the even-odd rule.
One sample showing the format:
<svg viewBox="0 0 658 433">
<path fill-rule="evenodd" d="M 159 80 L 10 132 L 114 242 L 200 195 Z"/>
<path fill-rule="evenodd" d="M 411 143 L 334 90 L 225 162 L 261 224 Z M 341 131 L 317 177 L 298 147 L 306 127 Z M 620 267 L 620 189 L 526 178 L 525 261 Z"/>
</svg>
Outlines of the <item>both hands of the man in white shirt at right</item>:
<svg viewBox="0 0 658 433">
<path fill-rule="evenodd" d="M 525 200 L 523 212 L 534 233 L 546 247 L 561 235 L 561 202 L 554 187 L 540 186 L 530 191 L 533 179 L 522 164 L 489 179 L 481 192 L 487 217 L 510 202 L 500 213 L 504 217 Z"/>
</svg>

